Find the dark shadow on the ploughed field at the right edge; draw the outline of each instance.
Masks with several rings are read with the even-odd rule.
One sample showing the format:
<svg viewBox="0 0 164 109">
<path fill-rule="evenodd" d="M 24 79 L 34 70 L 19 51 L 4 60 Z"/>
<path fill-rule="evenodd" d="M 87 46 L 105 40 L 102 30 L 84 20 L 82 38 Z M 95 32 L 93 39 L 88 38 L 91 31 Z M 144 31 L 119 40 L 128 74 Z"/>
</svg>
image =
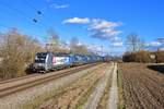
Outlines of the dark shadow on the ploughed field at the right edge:
<svg viewBox="0 0 164 109">
<path fill-rule="evenodd" d="M 164 74 L 164 64 L 148 65 L 148 68 Z"/>
</svg>

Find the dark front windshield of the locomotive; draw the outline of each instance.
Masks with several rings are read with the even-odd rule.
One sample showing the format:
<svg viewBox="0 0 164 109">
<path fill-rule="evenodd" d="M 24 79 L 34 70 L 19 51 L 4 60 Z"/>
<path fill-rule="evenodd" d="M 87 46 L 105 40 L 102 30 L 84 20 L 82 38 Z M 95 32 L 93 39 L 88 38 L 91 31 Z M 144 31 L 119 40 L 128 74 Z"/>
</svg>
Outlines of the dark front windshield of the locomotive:
<svg viewBox="0 0 164 109">
<path fill-rule="evenodd" d="M 35 63 L 45 63 L 47 53 L 37 53 L 35 57 Z"/>
</svg>

